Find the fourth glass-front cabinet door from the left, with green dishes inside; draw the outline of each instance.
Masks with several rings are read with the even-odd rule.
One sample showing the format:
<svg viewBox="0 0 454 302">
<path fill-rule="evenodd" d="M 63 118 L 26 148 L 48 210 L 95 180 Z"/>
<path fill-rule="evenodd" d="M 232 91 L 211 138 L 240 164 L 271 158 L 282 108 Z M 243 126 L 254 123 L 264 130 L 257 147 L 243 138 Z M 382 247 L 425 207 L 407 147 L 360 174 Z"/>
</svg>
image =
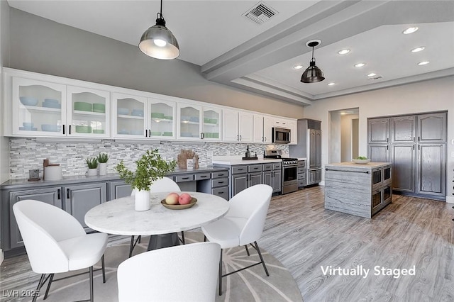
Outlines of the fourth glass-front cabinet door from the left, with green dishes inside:
<svg viewBox="0 0 454 302">
<path fill-rule="evenodd" d="M 175 121 L 177 106 L 172 101 L 160 99 L 148 99 L 150 124 L 148 137 L 169 140 L 177 137 L 175 133 Z"/>
</svg>

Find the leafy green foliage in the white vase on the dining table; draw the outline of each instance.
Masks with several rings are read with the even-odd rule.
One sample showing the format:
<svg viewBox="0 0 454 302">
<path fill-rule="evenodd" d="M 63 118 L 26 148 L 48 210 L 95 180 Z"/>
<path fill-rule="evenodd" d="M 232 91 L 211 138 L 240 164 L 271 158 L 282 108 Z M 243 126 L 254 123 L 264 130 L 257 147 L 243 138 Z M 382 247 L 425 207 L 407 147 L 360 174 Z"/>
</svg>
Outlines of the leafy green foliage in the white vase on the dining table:
<svg viewBox="0 0 454 302">
<path fill-rule="evenodd" d="M 137 166 L 135 172 L 126 168 L 123 160 L 116 165 L 115 169 L 126 184 L 131 184 L 133 189 L 139 191 L 148 190 L 153 181 L 165 177 L 165 175 L 173 172 L 177 166 L 175 160 L 172 160 L 172 162 L 162 160 L 157 149 L 147 150 L 135 164 Z"/>
</svg>

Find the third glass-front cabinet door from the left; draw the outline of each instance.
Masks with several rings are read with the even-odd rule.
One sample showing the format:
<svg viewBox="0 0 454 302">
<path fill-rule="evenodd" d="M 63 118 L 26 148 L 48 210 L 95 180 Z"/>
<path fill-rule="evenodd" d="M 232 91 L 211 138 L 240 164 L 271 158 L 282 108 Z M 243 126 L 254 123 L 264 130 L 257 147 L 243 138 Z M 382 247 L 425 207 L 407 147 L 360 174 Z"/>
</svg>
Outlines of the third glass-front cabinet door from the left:
<svg viewBox="0 0 454 302">
<path fill-rule="evenodd" d="M 114 106 L 112 135 L 116 138 L 148 137 L 145 120 L 146 104 L 145 96 L 112 94 L 112 105 Z"/>
</svg>

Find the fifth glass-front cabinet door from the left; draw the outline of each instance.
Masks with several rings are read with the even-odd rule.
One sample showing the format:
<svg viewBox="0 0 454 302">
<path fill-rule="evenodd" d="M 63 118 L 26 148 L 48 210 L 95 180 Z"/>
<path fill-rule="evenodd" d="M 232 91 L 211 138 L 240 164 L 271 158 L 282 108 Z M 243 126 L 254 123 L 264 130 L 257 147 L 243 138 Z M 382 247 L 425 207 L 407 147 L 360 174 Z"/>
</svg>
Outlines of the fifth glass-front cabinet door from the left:
<svg viewBox="0 0 454 302">
<path fill-rule="evenodd" d="M 192 104 L 178 104 L 178 138 L 184 140 L 201 140 L 201 106 Z"/>
</svg>

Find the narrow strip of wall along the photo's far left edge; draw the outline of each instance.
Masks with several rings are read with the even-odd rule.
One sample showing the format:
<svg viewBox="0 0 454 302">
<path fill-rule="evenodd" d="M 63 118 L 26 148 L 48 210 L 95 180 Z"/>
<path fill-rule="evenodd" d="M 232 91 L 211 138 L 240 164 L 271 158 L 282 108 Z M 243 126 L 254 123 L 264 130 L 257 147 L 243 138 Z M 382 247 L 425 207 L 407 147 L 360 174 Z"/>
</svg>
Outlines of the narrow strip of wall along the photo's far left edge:
<svg viewBox="0 0 454 302">
<path fill-rule="evenodd" d="M 3 74 L 1 67 L 9 61 L 9 5 L 0 0 L 0 116 L 3 117 Z M 3 118 L 1 118 L 3 121 Z M 9 178 L 9 140 L 3 135 L 3 123 L 0 123 L 0 184 Z M 0 198 L 0 203 L 1 203 Z M 0 249 L 0 263 L 4 255 Z"/>
</svg>

